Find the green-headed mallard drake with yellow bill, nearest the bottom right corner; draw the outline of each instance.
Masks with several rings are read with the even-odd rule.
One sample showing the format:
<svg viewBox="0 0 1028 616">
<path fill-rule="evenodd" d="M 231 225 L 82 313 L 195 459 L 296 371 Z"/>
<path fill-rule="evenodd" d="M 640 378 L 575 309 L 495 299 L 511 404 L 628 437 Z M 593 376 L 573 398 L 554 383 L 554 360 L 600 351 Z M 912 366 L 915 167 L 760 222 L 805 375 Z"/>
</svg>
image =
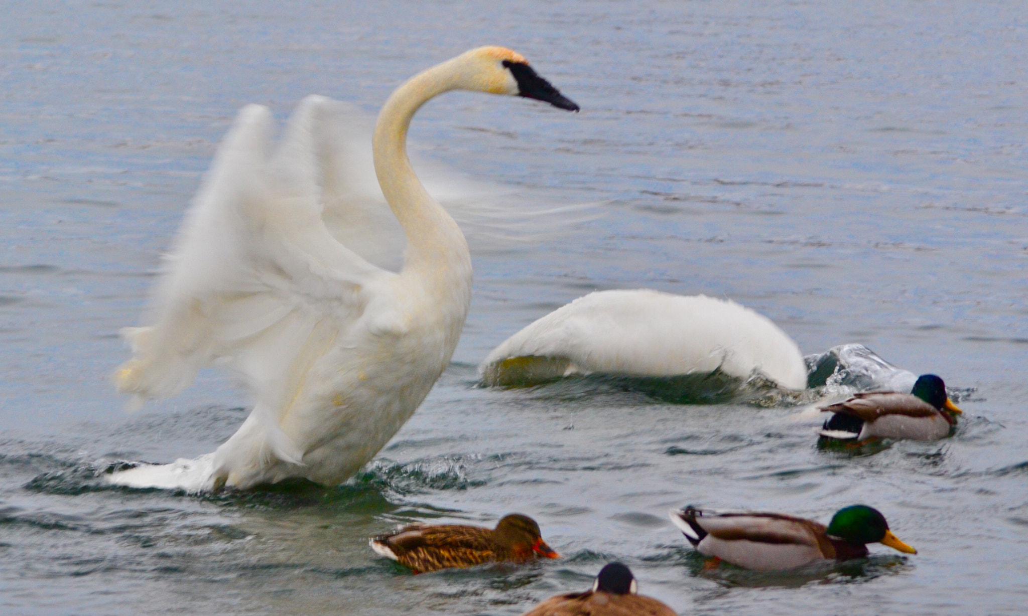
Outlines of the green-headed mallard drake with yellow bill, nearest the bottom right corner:
<svg viewBox="0 0 1028 616">
<path fill-rule="evenodd" d="M 757 571 L 793 569 L 829 559 L 858 559 L 868 555 L 868 543 L 917 553 L 892 534 L 878 509 L 867 505 L 839 509 L 828 528 L 782 513 L 719 513 L 686 507 L 672 510 L 670 515 L 700 553 Z"/>
</svg>

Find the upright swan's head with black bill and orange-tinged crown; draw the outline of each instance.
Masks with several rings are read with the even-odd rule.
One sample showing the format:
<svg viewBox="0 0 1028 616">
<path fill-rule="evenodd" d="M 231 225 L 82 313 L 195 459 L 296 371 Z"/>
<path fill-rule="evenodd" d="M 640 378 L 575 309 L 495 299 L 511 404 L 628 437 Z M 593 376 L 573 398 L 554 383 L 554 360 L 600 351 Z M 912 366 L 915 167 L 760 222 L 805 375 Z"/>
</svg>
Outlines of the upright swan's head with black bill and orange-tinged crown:
<svg viewBox="0 0 1028 616">
<path fill-rule="evenodd" d="M 578 111 L 579 106 L 539 76 L 520 53 L 506 47 L 479 47 L 460 56 L 471 69 L 464 85 L 492 94 L 524 97 L 554 107 Z"/>
</svg>

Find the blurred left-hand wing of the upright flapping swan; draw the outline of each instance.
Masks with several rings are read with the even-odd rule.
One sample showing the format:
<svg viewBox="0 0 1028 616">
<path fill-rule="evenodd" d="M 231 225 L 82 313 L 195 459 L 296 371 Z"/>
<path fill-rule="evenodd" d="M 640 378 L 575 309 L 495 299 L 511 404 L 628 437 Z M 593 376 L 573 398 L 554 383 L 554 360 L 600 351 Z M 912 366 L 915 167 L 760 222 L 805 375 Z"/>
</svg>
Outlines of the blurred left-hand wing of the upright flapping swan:
<svg viewBox="0 0 1028 616">
<path fill-rule="evenodd" d="M 134 356 L 115 375 L 122 392 L 174 395 L 217 360 L 243 377 L 255 413 L 277 424 L 309 362 L 394 275 L 322 220 L 326 195 L 343 207 L 330 136 L 320 130 L 329 103 L 304 100 L 271 158 L 269 111 L 240 112 L 166 259 L 151 324 L 125 332 Z"/>
</svg>

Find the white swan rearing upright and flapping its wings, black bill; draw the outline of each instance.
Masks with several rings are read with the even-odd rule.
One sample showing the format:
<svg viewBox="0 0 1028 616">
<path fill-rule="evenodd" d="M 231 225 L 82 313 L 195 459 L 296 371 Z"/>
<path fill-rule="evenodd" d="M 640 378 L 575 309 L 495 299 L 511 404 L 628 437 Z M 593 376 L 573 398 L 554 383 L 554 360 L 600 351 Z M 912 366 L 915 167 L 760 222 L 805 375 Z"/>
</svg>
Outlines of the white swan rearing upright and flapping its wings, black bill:
<svg viewBox="0 0 1028 616">
<path fill-rule="evenodd" d="M 399 273 L 368 263 L 337 240 L 346 233 L 326 226 L 359 224 L 333 148 L 333 103 L 304 100 L 274 156 L 270 112 L 256 105 L 240 112 L 179 232 L 153 324 L 126 332 L 134 356 L 115 382 L 141 398 L 163 397 L 199 368 L 224 365 L 242 376 L 254 409 L 214 454 L 141 465 L 111 483 L 188 491 L 289 477 L 334 485 L 407 421 L 449 363 L 471 298 L 464 235 L 406 153 L 414 112 L 453 89 L 578 111 L 502 47 L 468 51 L 393 92 L 373 154 L 407 239 Z"/>
</svg>

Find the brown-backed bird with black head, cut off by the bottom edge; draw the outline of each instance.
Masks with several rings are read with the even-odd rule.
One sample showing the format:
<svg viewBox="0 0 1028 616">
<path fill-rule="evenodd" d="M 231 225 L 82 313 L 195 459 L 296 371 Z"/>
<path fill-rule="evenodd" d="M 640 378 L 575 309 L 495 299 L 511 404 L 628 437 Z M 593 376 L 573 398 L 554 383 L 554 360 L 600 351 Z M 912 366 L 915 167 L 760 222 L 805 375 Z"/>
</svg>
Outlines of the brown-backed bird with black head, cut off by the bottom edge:
<svg viewBox="0 0 1028 616">
<path fill-rule="evenodd" d="M 610 563 L 589 590 L 551 596 L 524 616 L 675 616 L 656 599 L 636 594 L 636 586 L 631 570 Z"/>
</svg>

